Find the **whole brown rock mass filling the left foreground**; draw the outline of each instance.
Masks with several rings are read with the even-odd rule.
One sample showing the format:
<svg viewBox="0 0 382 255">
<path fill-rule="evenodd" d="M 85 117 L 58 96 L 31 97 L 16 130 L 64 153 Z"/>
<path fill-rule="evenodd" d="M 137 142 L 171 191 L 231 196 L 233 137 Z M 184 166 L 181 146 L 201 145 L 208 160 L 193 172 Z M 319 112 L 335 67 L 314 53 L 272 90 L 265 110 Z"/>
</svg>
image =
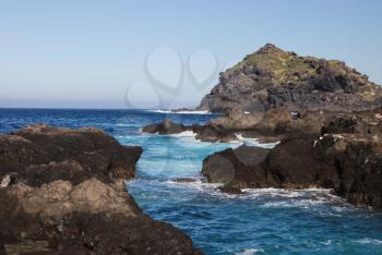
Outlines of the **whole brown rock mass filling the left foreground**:
<svg viewBox="0 0 382 255">
<path fill-rule="evenodd" d="M 0 135 L 0 254 L 196 254 L 127 193 L 141 153 L 96 129 Z"/>
</svg>

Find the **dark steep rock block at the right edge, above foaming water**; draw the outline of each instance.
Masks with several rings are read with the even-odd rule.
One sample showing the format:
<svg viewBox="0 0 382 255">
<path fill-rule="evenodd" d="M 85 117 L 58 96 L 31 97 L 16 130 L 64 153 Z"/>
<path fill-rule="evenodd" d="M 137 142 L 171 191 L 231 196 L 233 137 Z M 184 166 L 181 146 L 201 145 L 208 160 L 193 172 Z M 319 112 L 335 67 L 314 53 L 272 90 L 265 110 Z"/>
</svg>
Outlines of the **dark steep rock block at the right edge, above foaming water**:
<svg viewBox="0 0 382 255">
<path fill-rule="evenodd" d="M 327 135 L 315 148 L 321 185 L 354 204 L 382 208 L 381 137 Z"/>
</svg>

